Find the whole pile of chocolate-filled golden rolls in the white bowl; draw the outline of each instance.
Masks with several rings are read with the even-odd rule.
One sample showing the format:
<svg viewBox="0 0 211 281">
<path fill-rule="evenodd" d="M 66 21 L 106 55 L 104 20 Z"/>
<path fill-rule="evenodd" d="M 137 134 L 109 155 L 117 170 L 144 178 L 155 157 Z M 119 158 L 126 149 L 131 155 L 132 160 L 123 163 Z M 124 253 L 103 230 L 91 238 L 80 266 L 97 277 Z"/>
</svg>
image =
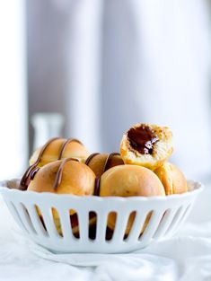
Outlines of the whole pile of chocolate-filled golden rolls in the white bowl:
<svg viewBox="0 0 211 281">
<path fill-rule="evenodd" d="M 32 155 L 30 167 L 19 189 L 76 196 L 152 197 L 187 192 L 187 181 L 178 167 L 168 162 L 173 151 L 168 127 L 136 124 L 122 137 L 119 153 L 90 154 L 75 138 L 53 138 Z M 41 213 L 39 208 L 38 214 Z M 62 235 L 57 211 L 52 209 L 58 233 Z M 145 225 L 141 230 L 143 233 Z M 127 222 L 130 232 L 135 214 Z M 78 221 L 70 211 L 72 231 L 78 234 Z M 95 224 L 94 215 L 90 225 Z M 115 228 L 116 214 L 108 218 L 108 229 Z M 42 222 L 44 224 L 44 222 Z M 140 233 L 140 234 L 141 234 Z"/>
</svg>

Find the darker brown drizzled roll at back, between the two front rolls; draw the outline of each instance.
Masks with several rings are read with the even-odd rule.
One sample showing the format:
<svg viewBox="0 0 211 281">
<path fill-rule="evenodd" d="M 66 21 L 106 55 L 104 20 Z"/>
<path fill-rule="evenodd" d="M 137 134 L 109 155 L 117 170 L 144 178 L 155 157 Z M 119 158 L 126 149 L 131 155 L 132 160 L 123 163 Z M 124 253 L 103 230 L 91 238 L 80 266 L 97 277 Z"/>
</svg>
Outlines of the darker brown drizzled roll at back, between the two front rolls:
<svg viewBox="0 0 211 281">
<path fill-rule="evenodd" d="M 100 178 L 103 172 L 109 170 L 112 167 L 124 164 L 120 154 L 91 154 L 85 161 L 96 177 Z"/>
</svg>

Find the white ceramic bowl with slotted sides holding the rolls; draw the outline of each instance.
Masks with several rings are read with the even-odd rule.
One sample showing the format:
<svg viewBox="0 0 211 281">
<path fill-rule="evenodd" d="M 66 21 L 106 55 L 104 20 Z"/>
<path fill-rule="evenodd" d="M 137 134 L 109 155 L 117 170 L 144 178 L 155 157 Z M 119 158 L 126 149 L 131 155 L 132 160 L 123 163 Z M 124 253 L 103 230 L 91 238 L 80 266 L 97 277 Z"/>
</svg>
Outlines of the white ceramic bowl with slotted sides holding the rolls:
<svg viewBox="0 0 211 281">
<path fill-rule="evenodd" d="M 32 241 L 54 252 L 99 252 L 122 253 L 145 248 L 153 241 L 170 237 L 189 215 L 201 184 L 189 181 L 189 192 L 166 197 L 99 198 L 56 195 L 8 189 L 14 181 L 1 184 L 0 193 L 14 220 L 23 233 Z M 45 227 L 37 214 L 39 206 Z M 59 214 L 62 235 L 52 216 L 52 207 Z M 78 215 L 80 237 L 72 233 L 69 210 Z M 95 239 L 89 237 L 89 214 L 97 215 Z M 117 221 L 110 240 L 106 239 L 107 219 L 110 212 L 116 212 Z M 127 220 L 132 212 L 136 217 L 127 237 Z M 146 216 L 151 213 L 149 222 L 141 233 Z"/>
</svg>

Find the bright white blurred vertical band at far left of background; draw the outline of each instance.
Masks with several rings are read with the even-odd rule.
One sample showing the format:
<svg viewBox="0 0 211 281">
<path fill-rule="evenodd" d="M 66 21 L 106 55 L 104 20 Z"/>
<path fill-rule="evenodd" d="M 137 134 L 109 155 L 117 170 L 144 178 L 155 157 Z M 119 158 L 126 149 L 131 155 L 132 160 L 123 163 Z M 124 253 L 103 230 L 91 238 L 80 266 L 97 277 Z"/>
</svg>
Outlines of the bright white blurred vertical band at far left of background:
<svg viewBox="0 0 211 281">
<path fill-rule="evenodd" d="M 28 158 L 25 1 L 0 2 L 0 180 L 19 177 Z"/>
</svg>

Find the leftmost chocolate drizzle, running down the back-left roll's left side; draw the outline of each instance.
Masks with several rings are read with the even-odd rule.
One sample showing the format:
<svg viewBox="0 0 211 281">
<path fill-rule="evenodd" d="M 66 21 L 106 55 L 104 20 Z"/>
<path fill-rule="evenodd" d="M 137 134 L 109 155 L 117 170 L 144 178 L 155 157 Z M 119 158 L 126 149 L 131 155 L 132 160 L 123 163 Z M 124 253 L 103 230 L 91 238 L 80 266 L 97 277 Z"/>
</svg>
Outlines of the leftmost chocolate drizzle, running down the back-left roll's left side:
<svg viewBox="0 0 211 281">
<path fill-rule="evenodd" d="M 48 140 L 48 142 L 42 146 L 40 150 L 40 154 L 38 155 L 37 160 L 25 171 L 24 175 L 22 176 L 22 180 L 20 181 L 20 190 L 26 190 L 30 184 L 31 179 L 31 174 L 33 175 L 33 178 L 36 174 L 36 169 L 37 166 L 41 160 L 42 155 L 44 154 L 45 150 L 47 149 L 48 145 L 50 145 L 52 142 L 57 140 L 59 137 L 54 137 Z M 35 172 L 36 171 L 36 172 Z"/>
</svg>

